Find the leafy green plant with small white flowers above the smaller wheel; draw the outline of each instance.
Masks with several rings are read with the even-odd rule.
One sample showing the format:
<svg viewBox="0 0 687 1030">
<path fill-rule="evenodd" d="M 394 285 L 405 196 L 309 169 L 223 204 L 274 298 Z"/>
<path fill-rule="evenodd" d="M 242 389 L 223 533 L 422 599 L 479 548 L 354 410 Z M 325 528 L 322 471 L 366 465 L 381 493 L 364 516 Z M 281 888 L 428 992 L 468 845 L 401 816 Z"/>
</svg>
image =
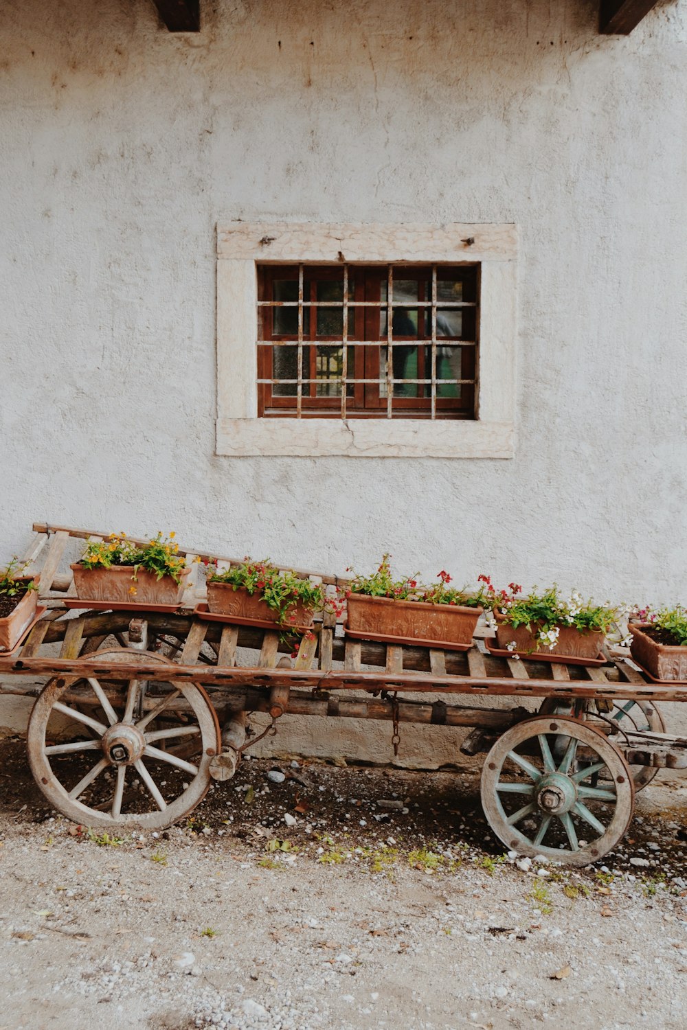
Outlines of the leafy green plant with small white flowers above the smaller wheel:
<svg viewBox="0 0 687 1030">
<path fill-rule="evenodd" d="M 575 626 L 580 632 L 608 633 L 625 611 L 618 606 L 595 605 L 591 599 L 585 602 L 577 590 L 573 590 L 570 597 L 563 597 L 555 583 L 541 593 L 535 587 L 530 593 L 521 595 L 522 587 L 517 583 L 509 583 L 508 590 L 496 590 L 490 577 L 480 576 L 479 580 L 485 586 L 485 608 L 514 629 L 526 626 L 536 632 L 541 645 L 550 649 L 556 646 L 561 628 Z"/>
</svg>

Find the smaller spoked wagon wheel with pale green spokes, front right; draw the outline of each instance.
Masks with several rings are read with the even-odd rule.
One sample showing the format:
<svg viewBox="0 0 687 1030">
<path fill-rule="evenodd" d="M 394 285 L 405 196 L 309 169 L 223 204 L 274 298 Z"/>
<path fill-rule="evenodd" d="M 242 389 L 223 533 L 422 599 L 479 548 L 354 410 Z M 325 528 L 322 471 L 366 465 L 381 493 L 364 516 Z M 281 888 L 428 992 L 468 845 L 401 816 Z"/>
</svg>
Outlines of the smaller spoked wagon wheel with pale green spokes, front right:
<svg viewBox="0 0 687 1030">
<path fill-rule="evenodd" d="M 557 716 L 527 719 L 499 737 L 481 793 L 487 822 L 508 848 L 576 866 L 615 848 L 634 806 L 618 749 L 588 723 Z"/>
</svg>

